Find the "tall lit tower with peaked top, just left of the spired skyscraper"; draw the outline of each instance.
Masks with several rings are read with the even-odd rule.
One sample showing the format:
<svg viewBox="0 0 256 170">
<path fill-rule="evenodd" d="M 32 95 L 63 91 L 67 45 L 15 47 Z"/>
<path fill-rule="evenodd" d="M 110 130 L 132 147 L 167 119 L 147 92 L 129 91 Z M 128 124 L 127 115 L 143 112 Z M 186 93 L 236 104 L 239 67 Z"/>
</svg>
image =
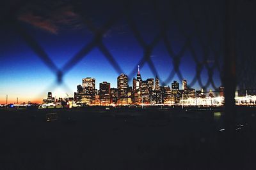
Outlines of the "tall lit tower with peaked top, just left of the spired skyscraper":
<svg viewBox="0 0 256 170">
<path fill-rule="evenodd" d="M 117 78 L 118 104 L 128 104 L 128 76 L 120 74 Z"/>
</svg>

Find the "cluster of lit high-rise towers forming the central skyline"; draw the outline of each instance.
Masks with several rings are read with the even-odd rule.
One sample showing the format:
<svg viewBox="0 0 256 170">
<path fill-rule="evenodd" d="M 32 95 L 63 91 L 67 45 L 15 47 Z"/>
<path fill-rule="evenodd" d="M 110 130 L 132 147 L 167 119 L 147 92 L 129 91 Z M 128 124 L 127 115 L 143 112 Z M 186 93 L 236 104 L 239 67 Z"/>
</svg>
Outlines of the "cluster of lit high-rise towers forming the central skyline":
<svg viewBox="0 0 256 170">
<path fill-rule="evenodd" d="M 220 92 L 223 96 L 223 90 Z M 103 81 L 99 90 L 95 89 L 95 78 L 83 78 L 83 84 L 77 85 L 74 101 L 88 105 L 127 105 L 127 104 L 175 104 L 181 99 L 201 97 L 205 98 L 203 90 L 188 88 L 187 81 L 182 81 L 182 90 L 179 83 L 173 81 L 172 87 L 160 86 L 159 78 L 142 80 L 140 66 L 136 78 L 132 80 L 132 87 L 128 85 L 128 76 L 120 74 L 117 78 L 117 88 L 111 88 L 110 83 Z M 214 97 L 209 92 L 209 97 Z M 51 97 L 50 97 L 51 98 Z"/>
</svg>

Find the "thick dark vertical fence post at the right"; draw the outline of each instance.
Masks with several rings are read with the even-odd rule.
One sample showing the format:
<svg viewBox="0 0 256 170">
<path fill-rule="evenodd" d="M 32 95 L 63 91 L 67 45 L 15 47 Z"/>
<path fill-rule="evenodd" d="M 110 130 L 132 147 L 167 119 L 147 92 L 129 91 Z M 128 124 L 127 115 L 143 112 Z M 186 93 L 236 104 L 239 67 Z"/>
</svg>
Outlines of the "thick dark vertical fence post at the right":
<svg viewBox="0 0 256 170">
<path fill-rule="evenodd" d="M 224 65 L 223 84 L 225 87 L 225 131 L 228 148 L 234 142 L 235 130 L 235 91 L 236 91 L 236 0 L 225 1 L 224 23 Z"/>
</svg>

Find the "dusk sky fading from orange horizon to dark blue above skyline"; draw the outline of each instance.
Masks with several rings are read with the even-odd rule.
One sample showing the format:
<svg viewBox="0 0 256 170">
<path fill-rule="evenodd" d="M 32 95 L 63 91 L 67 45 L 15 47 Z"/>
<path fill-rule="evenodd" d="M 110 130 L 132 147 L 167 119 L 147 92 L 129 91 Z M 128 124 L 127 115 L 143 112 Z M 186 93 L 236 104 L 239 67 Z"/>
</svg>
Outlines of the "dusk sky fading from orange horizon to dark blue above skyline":
<svg viewBox="0 0 256 170">
<path fill-rule="evenodd" d="M 188 83 L 193 81 L 196 74 L 193 58 L 196 57 L 204 65 L 200 75 L 202 83 L 205 85 L 207 82 L 208 72 L 205 64 L 208 64 L 209 67 L 214 67 L 212 78 L 215 87 L 221 85 L 221 1 L 180 1 L 179 4 L 169 1 L 31 1 L 26 4 L 20 3 L 21 5 L 19 3 L 20 1 L 10 1 L 6 4 L 8 8 L 1 9 L 1 20 L 4 24 L 0 32 L 0 103 L 5 103 L 6 94 L 12 103 L 17 97 L 20 102 L 41 103 L 42 99 L 47 97 L 48 91 L 53 92 L 53 96 L 56 97 L 65 97 L 66 92 L 69 96 L 74 96 L 76 86 L 86 77 L 96 79 L 97 89 L 102 81 L 108 81 L 111 87 L 116 87 L 116 78 L 121 71 L 129 75 L 131 86 L 132 77 L 136 76 L 136 67 L 145 52 L 140 38 L 143 39 L 143 43 L 150 45 L 159 35 L 159 40 L 154 44 L 154 48 L 151 48 L 152 52 L 146 53 L 146 57 L 150 58 L 156 68 L 161 85 L 170 85 L 173 80 L 180 82 L 177 74 L 168 79 L 174 64 L 173 56 L 166 50 L 163 36 L 168 39 L 174 54 L 180 53 L 189 38 L 188 48 L 180 55 L 179 66 L 182 77 L 188 80 Z M 132 22 L 127 20 L 125 11 L 128 11 Z M 56 73 L 38 57 L 35 48 L 33 49 L 24 36 L 20 35 L 20 28 L 17 27 L 19 25 L 28 32 L 58 69 L 62 69 L 77 52 L 93 41 L 95 34 L 92 28 L 100 28 L 109 18 L 118 19 L 102 35 L 102 44 L 106 46 L 120 69 L 115 69 L 113 63 L 111 64 L 108 57 L 102 53 L 102 49 L 94 46 L 75 66 L 63 69 L 62 83 L 58 83 Z M 163 21 L 166 24 L 164 31 L 161 27 Z M 90 26 L 88 23 L 91 23 Z M 132 24 L 135 27 L 132 27 Z M 134 29 L 138 30 L 139 35 L 134 33 Z M 156 73 L 150 68 L 152 66 L 147 62 L 141 64 L 143 80 L 156 77 Z M 163 81 L 166 81 L 165 84 Z M 193 82 L 192 87 L 196 90 L 201 88 L 198 81 Z M 214 87 L 209 84 L 205 90 L 209 89 L 214 90 Z"/>
</svg>

